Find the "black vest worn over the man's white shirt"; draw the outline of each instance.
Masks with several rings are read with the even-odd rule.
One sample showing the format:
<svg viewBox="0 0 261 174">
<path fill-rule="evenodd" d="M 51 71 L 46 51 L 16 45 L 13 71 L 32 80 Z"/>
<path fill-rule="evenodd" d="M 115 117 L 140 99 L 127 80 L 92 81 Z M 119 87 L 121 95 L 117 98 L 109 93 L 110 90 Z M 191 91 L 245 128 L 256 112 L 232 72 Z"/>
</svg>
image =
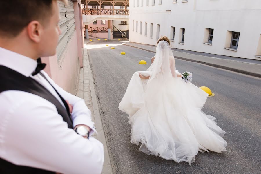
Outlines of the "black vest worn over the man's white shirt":
<svg viewBox="0 0 261 174">
<path fill-rule="evenodd" d="M 43 74 L 41 75 L 44 77 Z M 0 65 L 0 80 L 1 80 L 0 93 L 7 90 L 18 90 L 18 91 L 24 91 L 24 92 L 38 95 L 48 100 L 52 104 L 54 104 L 57 108 L 58 113 L 63 117 L 64 122 L 67 122 L 68 128 L 73 129 L 73 122 L 72 119 L 70 118 L 70 111 L 69 111 L 68 104 L 65 102 L 65 100 L 61 97 L 61 95 L 56 90 L 55 91 L 63 101 L 66 109 L 57 100 L 57 98 L 52 95 L 52 93 L 50 93 L 44 86 L 42 86 L 40 83 L 38 83 L 36 80 L 32 79 L 31 77 L 26 77 L 18 73 L 17 71 L 14 71 L 10 68 Z M 35 115 L 35 117 L 37 117 L 37 115 Z M 54 173 L 54 172 L 45 171 L 39 168 L 18 166 L 0 158 L 0 173 L 1 174 L 2 173 L 42 174 L 42 173 Z"/>
</svg>

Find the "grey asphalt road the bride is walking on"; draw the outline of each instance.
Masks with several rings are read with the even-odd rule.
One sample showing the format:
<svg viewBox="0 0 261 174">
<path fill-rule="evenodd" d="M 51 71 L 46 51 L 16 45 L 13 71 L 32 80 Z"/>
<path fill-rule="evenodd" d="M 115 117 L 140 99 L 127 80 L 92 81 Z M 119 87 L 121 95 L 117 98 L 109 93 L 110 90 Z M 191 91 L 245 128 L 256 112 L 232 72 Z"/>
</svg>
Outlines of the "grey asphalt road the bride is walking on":
<svg viewBox="0 0 261 174">
<path fill-rule="evenodd" d="M 208 86 L 206 114 L 217 118 L 226 131 L 227 152 L 201 153 L 191 166 L 187 162 L 164 160 L 139 151 L 131 144 L 128 115 L 118 109 L 135 71 L 150 66 L 153 53 L 121 45 L 123 41 L 88 44 L 88 54 L 100 104 L 104 130 L 114 172 L 117 174 L 260 174 L 261 173 L 261 79 L 211 66 L 176 59 L 176 68 L 193 73 L 192 83 Z M 109 44 L 109 46 L 105 46 Z M 115 49 L 110 49 L 111 46 Z M 125 51 L 126 55 L 120 55 Z M 174 55 L 175 56 L 175 55 Z M 146 60 L 148 65 L 139 65 Z"/>
</svg>

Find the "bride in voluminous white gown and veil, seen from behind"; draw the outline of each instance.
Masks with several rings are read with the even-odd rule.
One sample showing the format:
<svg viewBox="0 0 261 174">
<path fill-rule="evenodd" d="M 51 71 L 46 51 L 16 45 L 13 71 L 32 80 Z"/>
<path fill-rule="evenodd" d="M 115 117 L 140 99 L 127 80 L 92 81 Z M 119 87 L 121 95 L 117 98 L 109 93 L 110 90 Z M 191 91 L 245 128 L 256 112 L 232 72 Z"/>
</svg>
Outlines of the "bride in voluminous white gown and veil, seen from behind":
<svg viewBox="0 0 261 174">
<path fill-rule="evenodd" d="M 131 143 L 140 151 L 176 162 L 195 162 L 198 151 L 226 151 L 225 132 L 201 111 L 208 94 L 176 71 L 167 37 L 159 39 L 153 63 L 135 72 L 119 109 L 129 115 Z"/>
</svg>

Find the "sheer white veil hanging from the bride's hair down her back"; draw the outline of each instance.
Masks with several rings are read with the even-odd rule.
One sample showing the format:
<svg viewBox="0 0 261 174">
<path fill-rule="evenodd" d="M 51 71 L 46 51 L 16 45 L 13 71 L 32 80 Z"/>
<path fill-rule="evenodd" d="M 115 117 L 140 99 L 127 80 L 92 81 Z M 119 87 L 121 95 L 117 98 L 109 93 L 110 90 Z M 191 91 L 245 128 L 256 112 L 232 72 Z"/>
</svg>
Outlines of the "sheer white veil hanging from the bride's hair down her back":
<svg viewBox="0 0 261 174">
<path fill-rule="evenodd" d="M 150 80 L 155 78 L 167 80 L 170 75 L 177 77 L 175 59 L 168 42 L 159 42 L 155 59 L 147 71 L 152 72 Z"/>
</svg>

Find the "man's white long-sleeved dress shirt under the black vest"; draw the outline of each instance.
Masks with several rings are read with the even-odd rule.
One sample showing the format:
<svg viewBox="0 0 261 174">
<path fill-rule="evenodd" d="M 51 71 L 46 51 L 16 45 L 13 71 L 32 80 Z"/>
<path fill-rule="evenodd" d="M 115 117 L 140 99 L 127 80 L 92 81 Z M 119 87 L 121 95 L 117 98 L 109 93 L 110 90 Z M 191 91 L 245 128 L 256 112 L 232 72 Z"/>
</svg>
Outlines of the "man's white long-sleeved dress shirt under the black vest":
<svg viewBox="0 0 261 174">
<path fill-rule="evenodd" d="M 76 97 L 40 75 L 32 76 L 37 61 L 0 47 L 0 65 L 32 77 L 48 89 L 64 106 L 58 93 L 73 105 L 73 126 L 84 124 L 96 132 L 91 112 L 83 99 Z M 0 79 L 1 80 L 1 79 Z M 4 81 L 1 81 L 4 83 Z M 89 140 L 69 129 L 54 104 L 24 91 L 0 93 L 0 157 L 17 165 L 60 173 L 100 174 L 104 161 L 101 142 Z"/>
</svg>

